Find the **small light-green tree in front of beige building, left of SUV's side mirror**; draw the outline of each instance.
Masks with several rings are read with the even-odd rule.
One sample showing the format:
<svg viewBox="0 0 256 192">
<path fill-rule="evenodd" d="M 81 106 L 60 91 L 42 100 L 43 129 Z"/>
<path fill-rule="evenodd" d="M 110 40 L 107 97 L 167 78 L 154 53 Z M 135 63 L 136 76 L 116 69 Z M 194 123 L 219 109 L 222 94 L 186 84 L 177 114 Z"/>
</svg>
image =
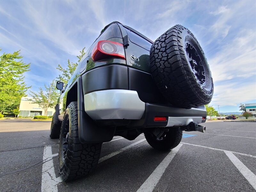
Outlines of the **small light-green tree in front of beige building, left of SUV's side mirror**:
<svg viewBox="0 0 256 192">
<path fill-rule="evenodd" d="M 44 109 L 44 115 L 47 115 L 48 108 L 53 108 L 58 100 L 59 93 L 55 88 L 56 81 L 52 80 L 50 85 L 44 84 L 44 90 L 40 87 L 39 91 L 32 92 L 30 91 L 30 95 L 32 96 L 32 103 L 36 103 L 39 107 Z"/>
</svg>

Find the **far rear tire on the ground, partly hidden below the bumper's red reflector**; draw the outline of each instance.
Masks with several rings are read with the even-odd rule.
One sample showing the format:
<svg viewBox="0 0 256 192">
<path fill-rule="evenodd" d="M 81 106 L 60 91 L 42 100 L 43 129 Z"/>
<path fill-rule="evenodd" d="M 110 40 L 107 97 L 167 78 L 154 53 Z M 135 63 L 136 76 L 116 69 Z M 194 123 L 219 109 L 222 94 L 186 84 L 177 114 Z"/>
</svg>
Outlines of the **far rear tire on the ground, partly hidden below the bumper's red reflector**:
<svg viewBox="0 0 256 192">
<path fill-rule="evenodd" d="M 177 147 L 182 139 L 182 131 L 180 127 L 173 127 L 169 129 L 169 132 L 164 132 L 164 138 L 162 140 L 157 140 L 152 132 L 144 132 L 144 135 L 148 144 L 160 151 L 168 151 Z"/>
</svg>

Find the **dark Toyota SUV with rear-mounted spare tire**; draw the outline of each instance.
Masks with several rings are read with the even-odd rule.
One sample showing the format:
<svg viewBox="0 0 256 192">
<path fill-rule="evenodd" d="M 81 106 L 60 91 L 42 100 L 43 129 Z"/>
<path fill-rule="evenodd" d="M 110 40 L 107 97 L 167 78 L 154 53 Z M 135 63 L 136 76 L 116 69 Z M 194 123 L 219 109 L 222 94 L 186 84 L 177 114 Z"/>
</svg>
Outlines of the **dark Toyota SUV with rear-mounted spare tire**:
<svg viewBox="0 0 256 192">
<path fill-rule="evenodd" d="M 213 82 L 193 34 L 176 25 L 155 42 L 112 22 L 79 62 L 63 87 L 50 137 L 60 138 L 59 172 L 68 181 L 91 172 L 101 144 L 144 133 L 149 145 L 170 150 L 182 131 L 205 131 L 204 105 Z"/>
</svg>

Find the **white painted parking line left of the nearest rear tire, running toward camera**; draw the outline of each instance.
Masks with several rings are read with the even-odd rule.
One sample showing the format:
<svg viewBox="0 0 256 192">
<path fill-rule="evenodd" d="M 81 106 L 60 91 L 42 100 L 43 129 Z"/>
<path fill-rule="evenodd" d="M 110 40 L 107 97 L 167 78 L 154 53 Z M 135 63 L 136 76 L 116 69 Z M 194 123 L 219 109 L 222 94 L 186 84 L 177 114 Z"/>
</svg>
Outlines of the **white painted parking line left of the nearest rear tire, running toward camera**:
<svg viewBox="0 0 256 192">
<path fill-rule="evenodd" d="M 43 155 L 43 165 L 42 165 L 42 184 L 41 191 L 42 192 L 57 192 L 57 185 L 62 182 L 60 177 L 56 178 L 54 172 L 54 165 L 52 157 L 57 156 L 58 154 L 52 154 L 52 146 L 44 147 L 44 155 Z"/>
</svg>

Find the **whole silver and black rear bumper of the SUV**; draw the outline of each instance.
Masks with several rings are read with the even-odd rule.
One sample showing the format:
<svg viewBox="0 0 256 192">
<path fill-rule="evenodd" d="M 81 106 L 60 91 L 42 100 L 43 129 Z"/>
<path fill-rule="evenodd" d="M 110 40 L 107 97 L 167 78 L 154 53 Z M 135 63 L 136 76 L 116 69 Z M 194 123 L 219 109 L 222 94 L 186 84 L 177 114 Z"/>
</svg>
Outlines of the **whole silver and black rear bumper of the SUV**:
<svg viewBox="0 0 256 192">
<path fill-rule="evenodd" d="M 184 109 L 166 105 L 145 103 L 132 90 L 112 89 L 84 95 L 85 112 L 101 124 L 126 127 L 186 126 L 191 122 L 204 123 L 205 107 Z M 154 121 L 155 116 L 165 116 L 167 121 Z M 119 121 L 113 121 L 119 120 Z M 122 121 L 120 121 L 122 120 Z"/>
</svg>

